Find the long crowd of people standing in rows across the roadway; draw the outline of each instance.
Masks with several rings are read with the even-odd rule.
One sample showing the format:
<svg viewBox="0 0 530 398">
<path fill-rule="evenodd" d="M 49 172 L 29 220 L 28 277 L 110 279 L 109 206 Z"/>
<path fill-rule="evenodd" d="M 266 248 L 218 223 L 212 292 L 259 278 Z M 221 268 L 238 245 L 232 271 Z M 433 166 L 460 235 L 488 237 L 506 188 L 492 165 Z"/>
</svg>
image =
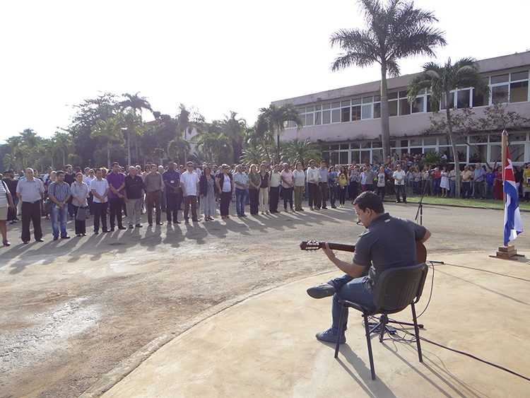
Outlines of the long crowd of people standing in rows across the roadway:
<svg viewBox="0 0 530 398">
<path fill-rule="evenodd" d="M 530 164 L 522 170 L 515 168 L 515 178 L 521 187 L 524 201 L 530 201 Z M 123 168 L 112 163 L 107 168 L 81 168 L 73 170 L 66 165 L 63 170 L 47 168 L 40 176 L 37 170 L 27 168 L 19 172 L 7 170 L 0 184 L 0 232 L 4 246 L 7 240 L 6 221 L 16 223 L 22 216 L 21 239 L 33 238 L 42 242 L 40 219 L 52 221 L 53 239 L 69 239 L 67 221 L 75 220 L 77 237 L 86 236 L 86 219 L 93 216 L 93 233 L 98 235 L 127 228 L 142 228 L 141 215 L 147 213 L 149 226 L 161 226 L 162 213 L 167 225 L 179 224 L 179 211 L 185 223 L 230 218 L 230 203 L 235 201 L 237 217 L 247 217 L 249 206 L 252 216 L 283 211 L 302 212 L 302 202 L 307 199 L 310 211 L 346 206 L 361 192 L 372 191 L 384 199 L 396 195 L 396 202 L 406 203 L 409 194 L 427 194 L 454 197 L 456 172 L 446 165 L 437 168 L 420 168 L 419 158 L 395 153 L 384 164 L 327 165 L 315 160 L 304 167 L 294 165 L 269 165 L 267 162 L 252 165 L 226 165 L 188 162 L 177 165 L 147 164 Z M 460 173 L 463 198 L 502 199 L 502 173 L 500 167 L 485 167 L 480 163 L 465 165 Z M 20 204 L 19 204 L 20 201 Z M 153 220 L 154 212 L 154 220 Z M 190 214 L 191 213 L 191 214 Z M 124 226 L 124 218 L 127 226 Z M 108 218 L 108 223 L 107 223 Z M 153 222 L 154 221 L 154 222 Z"/>
</svg>

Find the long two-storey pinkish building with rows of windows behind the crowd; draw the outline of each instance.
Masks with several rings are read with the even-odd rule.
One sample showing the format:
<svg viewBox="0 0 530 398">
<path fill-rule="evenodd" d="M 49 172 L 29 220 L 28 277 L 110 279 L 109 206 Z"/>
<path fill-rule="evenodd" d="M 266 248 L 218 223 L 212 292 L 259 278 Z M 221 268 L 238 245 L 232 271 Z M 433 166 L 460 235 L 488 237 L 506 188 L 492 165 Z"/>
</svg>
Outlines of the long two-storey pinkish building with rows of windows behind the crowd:
<svg viewBox="0 0 530 398">
<path fill-rule="evenodd" d="M 528 88 L 530 52 L 478 61 L 481 74 L 490 86 L 490 95 L 473 93 L 473 88 L 461 88 L 451 94 L 450 105 L 458 110 L 470 107 L 473 118 L 483 117 L 485 107 L 499 102 L 506 111 L 530 118 Z M 375 66 L 374 66 L 375 67 Z M 392 153 L 427 153 L 442 151 L 452 160 L 452 149 L 445 134 L 426 134 L 432 110 L 429 93 L 418 95 L 410 105 L 406 98 L 408 81 L 416 75 L 388 79 L 390 140 Z M 324 158 L 336 164 L 378 162 L 382 160 L 380 81 L 336 90 L 302 95 L 273 102 L 276 105 L 293 103 L 304 120 L 297 131 L 286 125 L 283 139 L 310 139 L 320 143 Z M 444 105 L 442 104 L 442 107 Z M 442 114 L 443 115 L 443 114 Z M 529 129 L 512 131 L 510 154 L 517 164 L 530 162 Z M 466 131 L 459 136 L 457 149 L 461 163 L 494 164 L 500 162 L 501 131 Z"/>
</svg>

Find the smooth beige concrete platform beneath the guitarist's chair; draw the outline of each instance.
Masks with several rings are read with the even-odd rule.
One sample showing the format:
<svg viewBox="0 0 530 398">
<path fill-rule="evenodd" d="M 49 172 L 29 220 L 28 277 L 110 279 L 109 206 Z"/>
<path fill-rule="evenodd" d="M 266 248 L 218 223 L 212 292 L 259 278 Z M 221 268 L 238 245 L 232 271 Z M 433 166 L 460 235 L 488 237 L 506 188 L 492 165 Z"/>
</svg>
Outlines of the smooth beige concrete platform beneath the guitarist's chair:
<svg viewBox="0 0 530 398">
<path fill-rule="evenodd" d="M 445 264 L 435 265 L 420 336 L 530 377 L 530 259 L 488 254 L 429 258 Z M 529 381 L 425 341 L 420 363 L 415 343 L 379 344 L 374 337 L 372 381 L 355 311 L 334 359 L 333 345 L 314 338 L 331 324 L 331 298 L 314 300 L 305 289 L 337 275 L 312 276 L 237 303 L 172 339 L 114 386 L 100 383 L 83 397 L 107 389 L 102 397 L 529 396 Z M 432 268 L 418 313 L 428 302 L 431 277 Z M 410 322 L 410 309 L 393 318 Z"/>
</svg>

